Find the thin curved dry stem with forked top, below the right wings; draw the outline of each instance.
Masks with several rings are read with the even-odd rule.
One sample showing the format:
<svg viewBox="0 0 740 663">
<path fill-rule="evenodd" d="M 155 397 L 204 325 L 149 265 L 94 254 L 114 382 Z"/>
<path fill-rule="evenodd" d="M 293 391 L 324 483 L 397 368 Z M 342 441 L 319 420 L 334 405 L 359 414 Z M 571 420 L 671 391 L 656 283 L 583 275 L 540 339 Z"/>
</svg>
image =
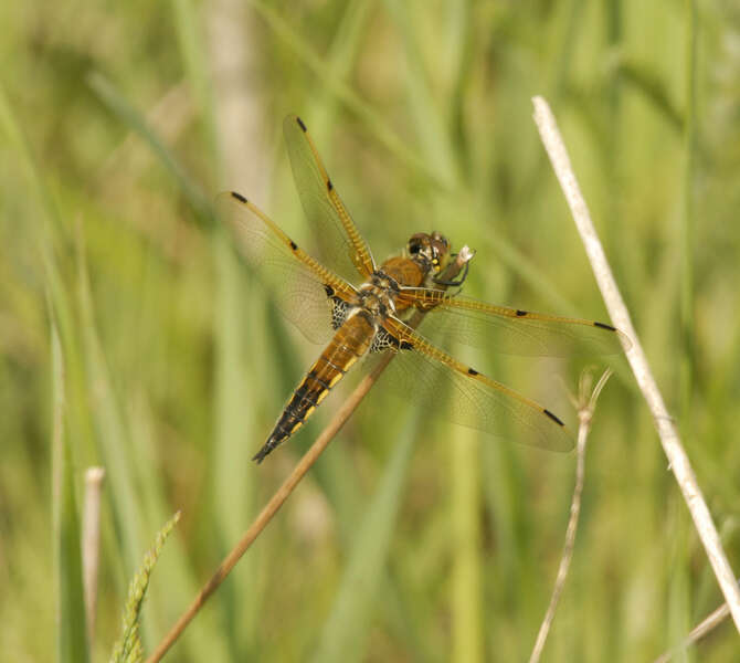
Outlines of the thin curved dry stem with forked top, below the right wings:
<svg viewBox="0 0 740 663">
<path fill-rule="evenodd" d="M 568 519 L 568 528 L 565 529 L 565 543 L 563 545 L 560 566 L 558 567 L 558 576 L 556 578 L 554 588 L 552 590 L 552 597 L 550 598 L 550 604 L 548 606 L 547 612 L 545 613 L 545 619 L 540 624 L 539 633 L 537 633 L 537 640 L 535 641 L 535 648 L 532 649 L 531 656 L 529 656 L 529 663 L 538 663 L 540 656 L 542 655 L 545 642 L 547 640 L 548 633 L 550 632 L 552 620 L 554 619 L 554 611 L 558 607 L 558 601 L 560 601 L 560 594 L 565 587 L 565 578 L 568 577 L 570 562 L 573 558 L 578 519 L 581 513 L 581 495 L 583 494 L 583 477 L 585 474 L 585 442 L 589 438 L 589 431 L 591 430 L 591 421 L 593 419 L 593 411 L 596 404 L 596 399 L 599 398 L 601 390 L 604 388 L 604 385 L 611 375 L 612 371 L 610 369 L 604 371 L 604 375 L 599 380 L 599 383 L 593 390 L 593 393 L 591 394 L 591 398 L 588 400 L 588 402 L 583 402 L 585 400 L 583 390 L 581 393 L 582 402 L 579 407 L 578 413 L 579 428 L 578 443 L 575 446 L 578 455 L 578 463 L 575 466 L 575 486 L 573 488 L 573 498 L 571 499 L 570 504 L 570 517 Z"/>
</svg>

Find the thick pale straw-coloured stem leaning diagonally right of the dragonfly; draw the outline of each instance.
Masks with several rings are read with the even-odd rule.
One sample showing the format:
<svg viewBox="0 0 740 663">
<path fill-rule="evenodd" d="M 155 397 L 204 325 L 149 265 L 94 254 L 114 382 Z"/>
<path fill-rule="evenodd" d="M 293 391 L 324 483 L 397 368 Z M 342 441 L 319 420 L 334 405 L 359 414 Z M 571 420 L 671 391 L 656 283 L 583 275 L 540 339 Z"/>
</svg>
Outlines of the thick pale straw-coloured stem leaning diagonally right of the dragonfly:
<svg viewBox="0 0 740 663">
<path fill-rule="evenodd" d="M 596 231 L 591 221 L 585 200 L 581 194 L 575 175 L 570 165 L 570 159 L 563 145 L 562 137 L 558 130 L 552 112 L 542 97 L 533 97 L 535 122 L 540 131 L 542 143 L 550 156 L 552 167 L 558 176 L 560 186 L 565 194 L 568 204 L 573 214 L 575 227 L 578 228 L 585 252 L 591 262 L 591 267 L 596 277 L 599 288 L 604 297 L 606 308 L 614 325 L 627 334 L 632 340 L 632 347 L 626 350 L 627 360 L 635 375 L 637 385 L 647 406 L 651 409 L 655 427 L 663 444 L 663 450 L 668 457 L 670 470 L 673 471 L 678 486 L 684 495 L 684 499 L 694 519 L 697 533 L 704 544 L 709 562 L 715 571 L 720 589 L 729 606 L 734 624 L 740 631 L 740 589 L 734 580 L 734 573 L 727 560 L 727 555 L 717 533 L 717 528 L 709 514 L 709 508 L 704 499 L 701 490 L 696 481 L 696 475 L 691 469 L 686 451 L 678 435 L 676 424 L 668 413 L 663 401 L 663 396 L 658 391 L 655 378 L 651 372 L 647 358 L 639 344 L 637 334 L 632 325 L 630 313 L 622 299 L 622 295 L 616 286 L 612 271 L 606 262 L 604 250 L 599 241 Z"/>
</svg>

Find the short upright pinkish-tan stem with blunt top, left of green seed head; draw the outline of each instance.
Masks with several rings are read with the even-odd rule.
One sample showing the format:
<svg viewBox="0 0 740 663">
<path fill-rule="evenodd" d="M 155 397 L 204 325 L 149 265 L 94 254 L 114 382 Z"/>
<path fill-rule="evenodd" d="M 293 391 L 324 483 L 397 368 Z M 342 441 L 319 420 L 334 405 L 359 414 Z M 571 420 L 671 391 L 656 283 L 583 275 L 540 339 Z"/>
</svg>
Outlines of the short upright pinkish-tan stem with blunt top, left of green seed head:
<svg viewBox="0 0 740 663">
<path fill-rule="evenodd" d="M 105 478 L 103 467 L 85 471 L 85 505 L 83 511 L 82 565 L 85 587 L 85 612 L 87 617 L 87 641 L 91 650 L 95 635 L 97 606 L 97 570 L 101 559 L 101 488 Z"/>
</svg>

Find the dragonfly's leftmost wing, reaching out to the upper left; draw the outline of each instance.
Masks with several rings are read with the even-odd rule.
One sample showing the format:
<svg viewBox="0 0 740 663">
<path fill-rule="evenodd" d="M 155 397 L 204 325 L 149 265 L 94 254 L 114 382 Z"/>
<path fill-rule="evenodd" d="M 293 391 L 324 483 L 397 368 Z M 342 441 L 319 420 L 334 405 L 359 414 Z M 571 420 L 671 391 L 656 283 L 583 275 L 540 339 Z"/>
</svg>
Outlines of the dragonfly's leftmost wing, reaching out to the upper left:
<svg viewBox="0 0 740 663">
<path fill-rule="evenodd" d="M 335 306 L 338 299 L 352 298 L 352 286 L 297 246 L 239 193 L 220 193 L 216 209 L 279 311 L 308 340 L 324 344 L 331 338 Z"/>
</svg>

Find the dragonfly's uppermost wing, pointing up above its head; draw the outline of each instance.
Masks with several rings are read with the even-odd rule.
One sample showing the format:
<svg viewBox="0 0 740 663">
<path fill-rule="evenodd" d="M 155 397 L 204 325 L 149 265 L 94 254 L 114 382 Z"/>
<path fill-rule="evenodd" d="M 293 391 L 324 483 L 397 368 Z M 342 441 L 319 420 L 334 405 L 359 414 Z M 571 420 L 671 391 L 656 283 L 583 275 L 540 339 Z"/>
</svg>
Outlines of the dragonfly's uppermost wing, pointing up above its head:
<svg viewBox="0 0 740 663">
<path fill-rule="evenodd" d="M 366 281 L 376 269 L 370 248 L 360 235 L 335 189 L 303 120 L 288 115 L 283 131 L 300 202 L 318 244 L 317 256 L 350 283 Z"/>
</svg>

